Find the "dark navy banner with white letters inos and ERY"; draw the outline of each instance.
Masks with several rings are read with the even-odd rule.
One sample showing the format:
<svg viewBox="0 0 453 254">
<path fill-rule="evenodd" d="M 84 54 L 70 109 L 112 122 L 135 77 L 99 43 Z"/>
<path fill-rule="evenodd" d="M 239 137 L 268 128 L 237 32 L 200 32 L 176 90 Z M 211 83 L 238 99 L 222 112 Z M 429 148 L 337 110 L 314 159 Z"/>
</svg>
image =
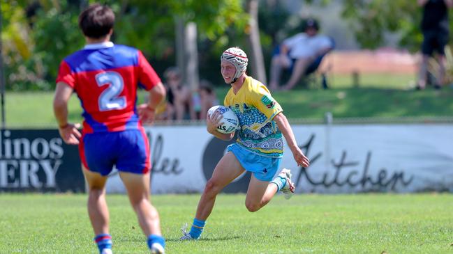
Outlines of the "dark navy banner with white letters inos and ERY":
<svg viewBox="0 0 453 254">
<path fill-rule="evenodd" d="M 84 191 L 77 146 L 56 129 L 1 130 L 0 191 Z"/>
</svg>

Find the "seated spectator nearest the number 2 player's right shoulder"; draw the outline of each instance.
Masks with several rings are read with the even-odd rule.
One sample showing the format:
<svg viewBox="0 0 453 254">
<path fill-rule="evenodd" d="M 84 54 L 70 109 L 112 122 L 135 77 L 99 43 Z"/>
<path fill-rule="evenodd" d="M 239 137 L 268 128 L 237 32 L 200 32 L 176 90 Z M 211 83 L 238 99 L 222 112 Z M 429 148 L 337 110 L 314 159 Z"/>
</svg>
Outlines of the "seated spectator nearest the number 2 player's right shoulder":
<svg viewBox="0 0 453 254">
<path fill-rule="evenodd" d="M 182 83 L 181 72 L 177 67 L 170 67 L 164 73 L 167 88 L 167 109 L 170 120 L 195 120 L 195 110 L 191 90 Z"/>
</svg>

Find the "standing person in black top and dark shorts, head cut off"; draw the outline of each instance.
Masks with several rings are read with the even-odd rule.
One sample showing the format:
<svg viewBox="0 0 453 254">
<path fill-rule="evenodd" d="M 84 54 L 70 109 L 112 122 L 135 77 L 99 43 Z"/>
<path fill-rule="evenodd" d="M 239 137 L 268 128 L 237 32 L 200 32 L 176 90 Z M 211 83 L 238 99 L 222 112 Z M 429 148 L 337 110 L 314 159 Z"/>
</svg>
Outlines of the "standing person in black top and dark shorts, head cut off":
<svg viewBox="0 0 453 254">
<path fill-rule="evenodd" d="M 426 87 L 426 74 L 428 61 L 434 51 L 438 53 L 438 77 L 434 88 L 440 89 L 445 84 L 445 45 L 448 43 L 449 22 L 448 8 L 453 6 L 453 0 L 418 0 L 419 6 L 423 6 L 422 19 L 422 63 L 420 64 L 417 89 Z"/>
</svg>

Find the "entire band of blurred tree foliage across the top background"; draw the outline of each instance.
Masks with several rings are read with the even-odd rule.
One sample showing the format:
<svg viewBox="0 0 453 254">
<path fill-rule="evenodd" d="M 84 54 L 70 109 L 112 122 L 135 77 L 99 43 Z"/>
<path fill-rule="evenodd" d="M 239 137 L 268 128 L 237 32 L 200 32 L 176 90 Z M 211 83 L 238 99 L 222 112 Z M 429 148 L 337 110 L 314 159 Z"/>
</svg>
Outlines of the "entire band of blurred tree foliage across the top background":
<svg viewBox="0 0 453 254">
<path fill-rule="evenodd" d="M 306 13 L 288 10 L 294 0 L 260 0 L 260 40 L 265 66 L 272 49 L 285 36 L 300 31 Z M 77 27 L 80 11 L 94 0 L 0 0 L 3 58 L 8 90 L 52 90 L 58 66 L 65 56 L 80 49 L 84 38 Z M 158 74 L 175 65 L 175 20 L 198 26 L 200 78 L 221 84 L 218 55 L 225 47 L 247 49 L 247 0 L 101 0 L 117 15 L 113 40 L 144 52 Z M 364 49 L 385 44 L 387 35 L 399 38 L 399 47 L 417 51 L 421 8 L 406 0 L 300 0 L 306 6 L 341 4 L 342 17 Z M 290 13 L 290 11 L 292 11 Z M 310 14 L 310 13 L 309 13 Z M 308 14 L 308 15 L 309 15 Z M 316 17 L 326 19 L 328 17 Z"/>
</svg>

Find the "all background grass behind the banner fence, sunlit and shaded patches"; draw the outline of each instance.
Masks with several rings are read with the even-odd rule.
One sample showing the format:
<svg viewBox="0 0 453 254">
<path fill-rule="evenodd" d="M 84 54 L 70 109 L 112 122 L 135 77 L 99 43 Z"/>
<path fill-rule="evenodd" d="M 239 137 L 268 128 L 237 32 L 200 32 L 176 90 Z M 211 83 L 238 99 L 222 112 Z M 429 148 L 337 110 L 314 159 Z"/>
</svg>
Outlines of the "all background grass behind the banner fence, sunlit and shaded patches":
<svg viewBox="0 0 453 254">
<path fill-rule="evenodd" d="M 452 88 L 408 90 L 411 81 L 413 77 L 408 75 L 369 74 L 364 75 L 361 86 L 355 88 L 349 76 L 336 75 L 329 79 L 332 85 L 329 90 L 297 87 L 273 93 L 273 96 L 283 106 L 285 115 L 293 119 L 322 120 L 325 112 L 332 112 L 334 118 L 452 116 Z M 220 102 L 223 102 L 228 88 L 227 84 L 217 86 Z M 142 102 L 144 93 L 139 95 L 139 102 Z M 52 92 L 7 92 L 7 127 L 55 127 L 52 99 Z M 81 122 L 81 113 L 77 97 L 71 97 L 70 121 Z"/>
</svg>

